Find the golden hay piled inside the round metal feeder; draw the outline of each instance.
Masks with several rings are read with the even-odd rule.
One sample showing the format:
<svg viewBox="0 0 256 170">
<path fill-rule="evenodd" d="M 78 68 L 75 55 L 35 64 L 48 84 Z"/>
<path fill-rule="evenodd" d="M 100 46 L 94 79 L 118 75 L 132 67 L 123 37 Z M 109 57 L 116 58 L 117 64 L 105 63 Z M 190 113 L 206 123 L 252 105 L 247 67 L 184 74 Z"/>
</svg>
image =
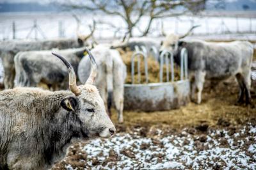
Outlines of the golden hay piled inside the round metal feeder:
<svg viewBox="0 0 256 170">
<path fill-rule="evenodd" d="M 127 67 L 127 77 L 125 79 L 125 83 L 131 84 L 132 83 L 132 77 L 131 77 L 131 57 L 133 52 L 131 50 L 122 50 L 118 49 L 120 52 L 122 59 Z M 140 72 L 141 72 L 141 84 L 146 83 L 146 76 L 145 76 L 145 63 L 143 59 L 141 58 L 140 60 Z M 150 57 L 148 58 L 148 83 L 150 82 L 159 82 L 160 80 L 160 65 L 159 63 L 153 58 Z M 134 60 L 134 84 L 139 84 L 138 83 L 138 69 L 137 69 L 137 63 L 138 63 L 138 58 L 135 58 Z M 174 65 L 174 80 L 178 81 L 180 79 L 180 68 L 177 65 Z M 171 80 L 171 72 L 169 69 L 169 81 Z M 164 65 L 163 69 L 163 82 L 166 82 L 166 66 Z"/>
</svg>

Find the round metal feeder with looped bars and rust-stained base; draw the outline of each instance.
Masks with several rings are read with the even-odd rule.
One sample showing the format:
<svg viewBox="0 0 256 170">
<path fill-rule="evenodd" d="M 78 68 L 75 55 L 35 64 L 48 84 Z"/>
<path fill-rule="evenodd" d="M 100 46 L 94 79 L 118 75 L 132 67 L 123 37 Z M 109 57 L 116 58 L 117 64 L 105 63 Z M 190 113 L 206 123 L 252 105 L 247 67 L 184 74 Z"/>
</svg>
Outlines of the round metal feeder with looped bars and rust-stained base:
<svg viewBox="0 0 256 170">
<path fill-rule="evenodd" d="M 159 82 L 148 82 L 148 58 L 151 56 L 159 64 Z M 135 60 L 137 63 L 135 63 Z M 141 60 L 144 61 L 145 82 L 141 83 Z M 137 64 L 137 66 L 135 66 Z M 164 66 L 166 82 L 163 82 Z M 180 77 L 175 80 L 175 62 L 172 52 L 163 50 L 161 54 L 156 47 L 135 47 L 131 58 L 131 84 L 125 84 L 125 109 L 139 111 L 164 111 L 185 105 L 189 101 L 188 51 L 180 50 Z M 137 83 L 135 84 L 135 67 Z"/>
</svg>

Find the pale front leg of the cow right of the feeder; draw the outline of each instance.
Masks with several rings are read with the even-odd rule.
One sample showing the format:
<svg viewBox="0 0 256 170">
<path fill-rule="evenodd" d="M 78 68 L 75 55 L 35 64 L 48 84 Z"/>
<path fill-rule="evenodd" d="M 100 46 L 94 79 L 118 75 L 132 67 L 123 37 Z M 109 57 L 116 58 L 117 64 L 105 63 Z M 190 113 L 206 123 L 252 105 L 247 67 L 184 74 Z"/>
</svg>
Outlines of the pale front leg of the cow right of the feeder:
<svg viewBox="0 0 256 170">
<path fill-rule="evenodd" d="M 198 71 L 195 73 L 195 84 L 196 84 L 196 88 L 198 89 L 197 104 L 200 104 L 202 101 L 202 91 L 204 88 L 205 74 L 206 73 L 203 71 Z"/>
</svg>

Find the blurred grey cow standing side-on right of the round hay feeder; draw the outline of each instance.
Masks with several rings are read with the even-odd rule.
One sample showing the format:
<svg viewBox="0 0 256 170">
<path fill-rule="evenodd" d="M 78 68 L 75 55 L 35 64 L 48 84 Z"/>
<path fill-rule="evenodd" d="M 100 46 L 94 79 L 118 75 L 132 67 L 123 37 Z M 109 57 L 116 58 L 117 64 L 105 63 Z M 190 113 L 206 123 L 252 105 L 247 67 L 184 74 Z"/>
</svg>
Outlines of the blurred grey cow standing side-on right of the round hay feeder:
<svg viewBox="0 0 256 170">
<path fill-rule="evenodd" d="M 179 40 L 178 36 L 169 35 L 164 40 L 161 50 L 170 50 L 175 60 L 180 63 L 179 50 L 188 50 L 188 68 L 195 77 L 192 86 L 192 97 L 198 89 L 197 103 L 200 104 L 205 79 L 227 79 L 235 76 L 240 92 L 238 103 L 250 104 L 250 68 L 253 57 L 253 46 L 250 42 L 204 42 L 201 40 Z"/>
</svg>

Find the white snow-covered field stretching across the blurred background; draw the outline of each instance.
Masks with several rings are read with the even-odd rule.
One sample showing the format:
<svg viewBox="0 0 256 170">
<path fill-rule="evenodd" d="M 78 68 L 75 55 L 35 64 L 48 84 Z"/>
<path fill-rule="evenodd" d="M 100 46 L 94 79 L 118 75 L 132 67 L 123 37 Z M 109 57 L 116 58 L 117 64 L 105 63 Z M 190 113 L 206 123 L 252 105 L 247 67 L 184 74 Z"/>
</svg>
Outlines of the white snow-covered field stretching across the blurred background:
<svg viewBox="0 0 256 170">
<path fill-rule="evenodd" d="M 116 36 L 124 36 L 125 23 L 118 17 L 102 15 L 79 15 L 81 19 L 80 33 L 89 33 L 89 24 L 93 19 L 96 20 L 97 30 L 96 38 L 113 38 L 115 31 L 108 24 L 99 24 L 99 22 L 111 23 L 120 28 Z M 16 38 L 26 38 L 33 27 L 34 20 L 37 21 L 38 27 L 42 30 L 45 38 L 57 38 L 60 36 L 60 27 L 62 35 L 65 37 L 76 37 L 76 20 L 71 13 L 2 13 L 0 15 L 0 40 L 12 39 L 12 24 L 15 22 Z M 148 17 L 143 17 L 140 22 L 140 29 L 147 24 Z M 238 18 L 235 17 L 188 17 L 180 16 L 179 18 L 166 18 L 154 20 L 152 23 L 152 32 L 150 36 L 159 36 L 161 34 L 161 22 L 164 23 L 166 33 L 186 33 L 189 27 L 200 24 L 194 33 L 196 35 L 220 33 L 255 33 L 255 18 Z M 59 25 L 61 22 L 61 26 Z M 139 29 L 134 31 L 134 35 L 140 35 Z M 28 38 L 35 38 L 32 32 Z M 38 38 L 43 38 L 38 31 Z"/>
</svg>

